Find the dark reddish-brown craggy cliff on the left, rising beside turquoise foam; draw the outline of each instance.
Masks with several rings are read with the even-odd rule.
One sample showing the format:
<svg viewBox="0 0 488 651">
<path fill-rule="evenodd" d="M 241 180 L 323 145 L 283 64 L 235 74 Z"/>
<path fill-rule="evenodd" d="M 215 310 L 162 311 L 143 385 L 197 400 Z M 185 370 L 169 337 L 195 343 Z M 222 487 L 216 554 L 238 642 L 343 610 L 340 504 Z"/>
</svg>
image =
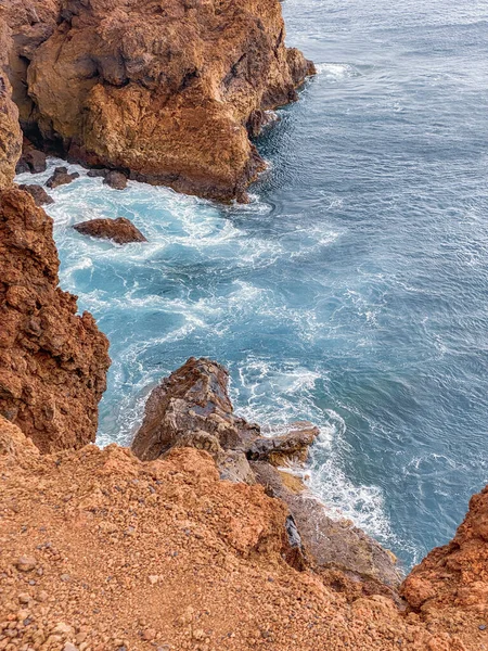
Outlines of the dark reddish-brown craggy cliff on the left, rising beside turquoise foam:
<svg viewBox="0 0 488 651">
<path fill-rule="evenodd" d="M 42 451 L 94 441 L 108 343 L 57 286 L 52 220 L 26 192 L 0 194 L 0 414 Z"/>
</svg>

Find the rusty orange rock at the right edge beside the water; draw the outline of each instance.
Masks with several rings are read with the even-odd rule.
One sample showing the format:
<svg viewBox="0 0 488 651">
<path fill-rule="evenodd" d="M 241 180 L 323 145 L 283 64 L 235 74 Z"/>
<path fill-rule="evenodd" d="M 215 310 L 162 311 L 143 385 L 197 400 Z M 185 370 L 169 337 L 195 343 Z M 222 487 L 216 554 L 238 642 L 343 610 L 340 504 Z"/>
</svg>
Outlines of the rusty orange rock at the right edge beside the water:
<svg viewBox="0 0 488 651">
<path fill-rule="evenodd" d="M 433 549 L 401 588 L 414 610 L 463 609 L 488 616 L 488 486 L 474 495 L 454 538 Z"/>
</svg>

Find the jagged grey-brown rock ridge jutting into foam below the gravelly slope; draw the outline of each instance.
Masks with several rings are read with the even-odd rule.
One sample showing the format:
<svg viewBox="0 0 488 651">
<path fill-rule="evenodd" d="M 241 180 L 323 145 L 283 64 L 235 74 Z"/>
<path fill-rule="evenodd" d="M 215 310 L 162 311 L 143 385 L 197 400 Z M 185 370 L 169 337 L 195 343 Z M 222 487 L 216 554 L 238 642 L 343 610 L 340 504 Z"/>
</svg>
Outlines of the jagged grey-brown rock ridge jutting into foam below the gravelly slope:
<svg viewBox="0 0 488 651">
<path fill-rule="evenodd" d="M 221 478 L 260 483 L 287 505 L 301 540 L 301 556 L 319 571 L 339 570 L 350 583 L 368 584 L 364 589 L 371 592 L 394 593 L 401 575 L 393 554 L 350 522 L 332 520 L 298 478 L 294 477 L 291 489 L 286 474 L 275 468 L 305 461 L 318 429 L 299 422 L 284 434 L 262 436 L 259 425 L 234 414 L 228 380 L 222 366 L 205 358 L 190 358 L 165 378 L 147 399 L 144 421 L 132 443 L 134 454 L 152 460 L 175 447 L 207 450 Z"/>
</svg>

